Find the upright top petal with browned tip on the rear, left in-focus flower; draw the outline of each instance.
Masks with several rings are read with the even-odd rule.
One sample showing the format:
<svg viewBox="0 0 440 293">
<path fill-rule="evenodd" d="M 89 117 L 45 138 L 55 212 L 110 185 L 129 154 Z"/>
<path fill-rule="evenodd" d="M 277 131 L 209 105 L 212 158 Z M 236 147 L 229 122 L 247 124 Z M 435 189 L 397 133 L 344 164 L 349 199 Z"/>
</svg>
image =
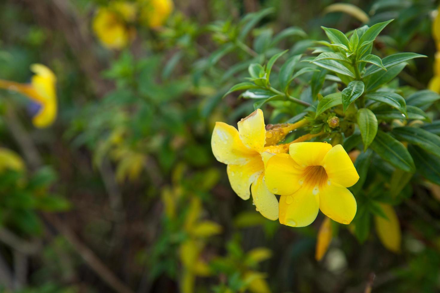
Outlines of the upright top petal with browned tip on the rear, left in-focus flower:
<svg viewBox="0 0 440 293">
<path fill-rule="evenodd" d="M 263 152 L 266 142 L 263 111 L 257 109 L 246 118 L 241 119 L 238 122 L 238 133 L 244 145 L 259 153 Z"/>
</svg>

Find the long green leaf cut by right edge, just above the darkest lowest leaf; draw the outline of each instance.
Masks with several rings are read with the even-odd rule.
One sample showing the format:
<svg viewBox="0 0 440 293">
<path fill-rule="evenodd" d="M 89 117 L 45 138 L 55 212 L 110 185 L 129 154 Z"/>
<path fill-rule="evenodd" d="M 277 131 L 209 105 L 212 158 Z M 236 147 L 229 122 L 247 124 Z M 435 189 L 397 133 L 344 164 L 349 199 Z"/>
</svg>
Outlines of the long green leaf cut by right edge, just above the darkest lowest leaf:
<svg viewBox="0 0 440 293">
<path fill-rule="evenodd" d="M 437 135 L 417 127 L 396 127 L 392 130 L 392 134 L 440 158 L 440 137 Z"/>
</svg>

